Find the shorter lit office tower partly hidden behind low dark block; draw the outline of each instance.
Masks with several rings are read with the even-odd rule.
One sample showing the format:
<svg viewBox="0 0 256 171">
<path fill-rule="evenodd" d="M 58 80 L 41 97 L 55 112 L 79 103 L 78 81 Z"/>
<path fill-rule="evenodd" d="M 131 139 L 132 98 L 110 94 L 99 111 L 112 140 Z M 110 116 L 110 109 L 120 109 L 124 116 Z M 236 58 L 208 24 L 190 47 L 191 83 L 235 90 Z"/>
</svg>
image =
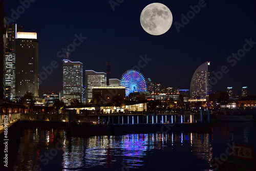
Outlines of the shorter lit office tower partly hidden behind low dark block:
<svg viewBox="0 0 256 171">
<path fill-rule="evenodd" d="M 106 86 L 106 73 L 86 70 L 86 103 L 93 99 L 93 87 Z"/>
</svg>

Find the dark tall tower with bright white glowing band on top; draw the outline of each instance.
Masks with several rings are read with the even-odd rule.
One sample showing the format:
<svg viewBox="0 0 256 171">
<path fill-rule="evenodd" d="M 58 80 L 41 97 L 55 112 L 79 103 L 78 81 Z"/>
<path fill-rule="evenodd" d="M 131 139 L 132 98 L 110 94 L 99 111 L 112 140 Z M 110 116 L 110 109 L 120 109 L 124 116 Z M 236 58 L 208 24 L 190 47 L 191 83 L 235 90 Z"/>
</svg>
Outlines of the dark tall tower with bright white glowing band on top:
<svg viewBox="0 0 256 171">
<path fill-rule="evenodd" d="M 38 40 L 32 32 L 17 32 L 15 39 L 16 68 L 15 96 L 22 98 L 26 92 L 38 97 Z"/>
</svg>

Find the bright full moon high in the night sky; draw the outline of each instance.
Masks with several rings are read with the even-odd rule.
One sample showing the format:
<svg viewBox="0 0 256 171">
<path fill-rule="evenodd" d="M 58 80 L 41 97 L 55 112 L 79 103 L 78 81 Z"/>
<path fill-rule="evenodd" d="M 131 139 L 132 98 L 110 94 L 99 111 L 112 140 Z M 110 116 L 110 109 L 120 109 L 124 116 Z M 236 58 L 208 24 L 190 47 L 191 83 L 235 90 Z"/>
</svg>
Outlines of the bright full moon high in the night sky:
<svg viewBox="0 0 256 171">
<path fill-rule="evenodd" d="M 148 34 L 161 35 L 172 26 L 173 14 L 165 5 L 153 3 L 142 10 L 140 24 Z"/>
</svg>

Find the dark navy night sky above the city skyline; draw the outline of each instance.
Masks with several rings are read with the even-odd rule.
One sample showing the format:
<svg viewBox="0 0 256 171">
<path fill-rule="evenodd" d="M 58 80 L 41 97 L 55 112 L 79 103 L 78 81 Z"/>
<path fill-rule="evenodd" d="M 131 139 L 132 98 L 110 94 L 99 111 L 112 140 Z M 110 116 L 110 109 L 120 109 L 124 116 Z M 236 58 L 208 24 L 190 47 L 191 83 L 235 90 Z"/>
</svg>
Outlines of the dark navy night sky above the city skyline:
<svg viewBox="0 0 256 171">
<path fill-rule="evenodd" d="M 9 18 L 17 8 L 21 9 L 19 1 L 4 2 Z M 14 23 L 23 26 L 24 31 L 37 32 L 39 73 L 53 60 L 59 64 L 40 84 L 40 96 L 42 92 L 62 90 L 62 61 L 57 52 L 73 44 L 75 34 L 80 33 L 87 39 L 75 48 L 70 60 L 82 62 L 84 70 L 106 72 L 105 62 L 110 59 L 111 78 L 120 79 L 123 72 L 138 65 L 140 55 L 146 55 L 152 59 L 140 69 L 146 78 L 166 87 L 189 89 L 194 71 L 210 61 L 211 72 L 221 71 L 222 66 L 229 70 L 212 91 L 226 91 L 232 86 L 234 93 L 241 95 L 242 86 L 247 86 L 249 95 L 256 95 L 256 45 L 251 45 L 254 47 L 236 65 L 234 58 L 227 62 L 228 56 L 243 49 L 245 39 L 256 42 L 256 1 L 207 0 L 205 7 L 180 32 L 175 22 L 181 24 L 181 14 L 187 15 L 191 11 L 189 6 L 200 1 L 157 1 L 166 5 L 174 18 L 169 31 L 160 36 L 146 33 L 140 25 L 141 11 L 154 2 L 125 0 L 114 11 L 108 0 L 30 3 Z"/>
</svg>

